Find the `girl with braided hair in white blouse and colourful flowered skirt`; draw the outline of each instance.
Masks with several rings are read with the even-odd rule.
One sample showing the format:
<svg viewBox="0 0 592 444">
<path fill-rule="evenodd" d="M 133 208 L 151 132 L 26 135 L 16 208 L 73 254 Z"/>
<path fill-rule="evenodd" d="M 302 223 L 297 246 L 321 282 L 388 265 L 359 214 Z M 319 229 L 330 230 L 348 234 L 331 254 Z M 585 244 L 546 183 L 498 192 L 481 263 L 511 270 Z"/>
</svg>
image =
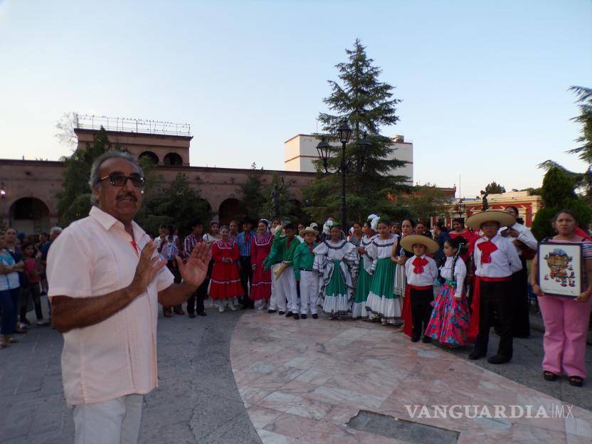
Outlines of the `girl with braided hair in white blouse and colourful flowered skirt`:
<svg viewBox="0 0 592 444">
<path fill-rule="evenodd" d="M 467 342 L 469 307 L 465 292 L 467 266 L 462 253 L 467 250 L 467 240 L 458 236 L 444 243 L 446 262 L 440 267 L 444 285 L 433 302 L 432 316 L 425 335 L 449 347 L 459 347 Z"/>
</svg>

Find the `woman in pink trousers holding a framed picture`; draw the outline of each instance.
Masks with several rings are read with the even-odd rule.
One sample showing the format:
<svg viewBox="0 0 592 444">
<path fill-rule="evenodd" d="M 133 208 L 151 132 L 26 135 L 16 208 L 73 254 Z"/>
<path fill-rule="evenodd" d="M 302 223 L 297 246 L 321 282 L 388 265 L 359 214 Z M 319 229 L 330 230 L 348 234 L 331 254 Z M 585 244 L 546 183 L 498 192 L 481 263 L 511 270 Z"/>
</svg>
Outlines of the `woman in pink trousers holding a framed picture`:
<svg viewBox="0 0 592 444">
<path fill-rule="evenodd" d="M 564 372 L 569 377 L 569 384 L 581 386 L 586 378 L 586 335 L 592 310 L 592 241 L 578 236 L 577 218 L 573 211 L 561 210 L 553 218 L 556 236 L 547 242 L 581 243 L 583 292 L 571 299 L 545 295 L 539 287 L 537 270 L 540 258 L 532 261 L 530 283 L 532 291 L 539 297 L 539 307 L 543 315 L 545 335 L 543 339 L 544 359 L 543 376 L 548 381 L 555 381 Z"/>
</svg>

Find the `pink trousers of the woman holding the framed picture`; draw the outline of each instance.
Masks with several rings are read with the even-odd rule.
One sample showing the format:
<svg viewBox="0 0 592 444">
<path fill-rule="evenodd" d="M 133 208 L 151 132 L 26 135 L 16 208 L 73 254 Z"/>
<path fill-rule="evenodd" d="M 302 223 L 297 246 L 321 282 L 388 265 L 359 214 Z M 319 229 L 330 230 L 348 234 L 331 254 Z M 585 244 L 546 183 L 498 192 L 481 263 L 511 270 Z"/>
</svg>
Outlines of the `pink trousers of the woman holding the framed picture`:
<svg viewBox="0 0 592 444">
<path fill-rule="evenodd" d="M 592 297 L 576 302 L 566 297 L 539 297 L 543 314 L 543 370 L 586 378 L 586 335 Z"/>
</svg>

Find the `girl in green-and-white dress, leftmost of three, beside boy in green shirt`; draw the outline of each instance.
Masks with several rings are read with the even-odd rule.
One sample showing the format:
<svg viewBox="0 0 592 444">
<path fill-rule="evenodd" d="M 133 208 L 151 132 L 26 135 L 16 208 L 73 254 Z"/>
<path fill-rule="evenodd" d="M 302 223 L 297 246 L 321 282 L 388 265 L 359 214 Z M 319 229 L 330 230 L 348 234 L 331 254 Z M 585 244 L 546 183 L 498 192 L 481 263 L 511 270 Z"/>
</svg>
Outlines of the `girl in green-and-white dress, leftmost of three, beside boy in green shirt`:
<svg viewBox="0 0 592 444">
<path fill-rule="evenodd" d="M 339 240 L 341 228 L 330 228 L 329 238 L 314 248 L 312 269 L 321 275 L 319 306 L 332 319 L 349 314 L 358 273 L 358 251 L 354 244 Z"/>
</svg>

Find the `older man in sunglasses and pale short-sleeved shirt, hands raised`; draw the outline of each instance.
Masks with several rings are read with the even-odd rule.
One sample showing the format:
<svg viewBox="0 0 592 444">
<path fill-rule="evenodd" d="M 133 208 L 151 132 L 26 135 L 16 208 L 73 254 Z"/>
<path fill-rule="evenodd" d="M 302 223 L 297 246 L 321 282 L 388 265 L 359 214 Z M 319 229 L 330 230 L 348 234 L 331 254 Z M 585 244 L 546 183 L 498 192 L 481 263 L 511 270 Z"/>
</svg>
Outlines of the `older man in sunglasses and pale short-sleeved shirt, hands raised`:
<svg viewBox="0 0 592 444">
<path fill-rule="evenodd" d="M 197 245 L 181 284 L 133 221 L 144 175 L 134 159 L 107 152 L 93 164 L 96 203 L 65 228 L 48 255 L 53 324 L 63 333 L 66 402 L 75 406 L 76 444 L 137 443 L 142 400 L 157 386 L 158 304 L 186 300 L 206 277 Z"/>
</svg>

